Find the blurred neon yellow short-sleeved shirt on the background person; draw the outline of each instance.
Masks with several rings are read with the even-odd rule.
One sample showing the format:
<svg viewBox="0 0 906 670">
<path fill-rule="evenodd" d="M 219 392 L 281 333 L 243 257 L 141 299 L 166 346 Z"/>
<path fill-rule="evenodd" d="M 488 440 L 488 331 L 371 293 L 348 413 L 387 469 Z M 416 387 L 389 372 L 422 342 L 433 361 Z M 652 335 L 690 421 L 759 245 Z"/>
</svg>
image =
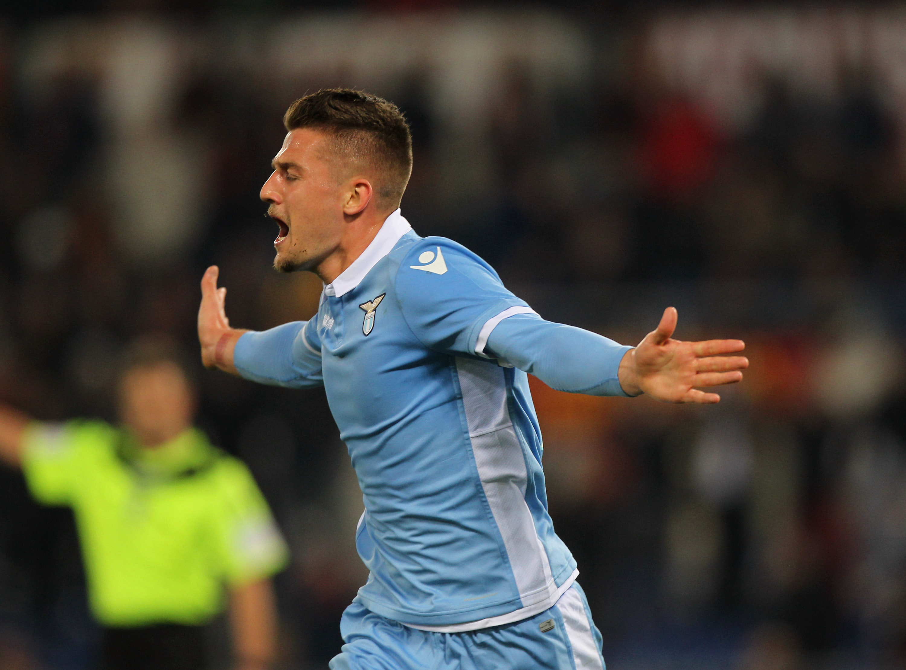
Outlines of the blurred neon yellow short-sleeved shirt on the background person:
<svg viewBox="0 0 906 670">
<path fill-rule="evenodd" d="M 268 578 L 288 558 L 246 465 L 194 428 L 145 449 L 101 421 L 35 423 L 23 470 L 35 499 L 72 507 L 106 626 L 205 623 L 225 586 Z"/>
</svg>

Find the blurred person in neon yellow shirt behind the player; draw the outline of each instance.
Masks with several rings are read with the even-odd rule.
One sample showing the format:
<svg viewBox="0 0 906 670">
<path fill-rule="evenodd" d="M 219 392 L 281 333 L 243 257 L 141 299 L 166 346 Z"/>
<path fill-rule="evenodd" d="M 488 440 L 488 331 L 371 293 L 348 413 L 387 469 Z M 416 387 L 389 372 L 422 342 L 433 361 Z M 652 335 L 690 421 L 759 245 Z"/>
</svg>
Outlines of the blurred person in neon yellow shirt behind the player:
<svg viewBox="0 0 906 670">
<path fill-rule="evenodd" d="M 178 352 L 133 346 L 118 388 L 122 426 L 47 424 L 0 406 L 0 457 L 34 498 L 75 513 L 102 670 L 203 670 L 204 625 L 225 605 L 236 668 L 274 661 L 270 578 L 286 545 L 246 466 L 192 427 Z"/>
</svg>

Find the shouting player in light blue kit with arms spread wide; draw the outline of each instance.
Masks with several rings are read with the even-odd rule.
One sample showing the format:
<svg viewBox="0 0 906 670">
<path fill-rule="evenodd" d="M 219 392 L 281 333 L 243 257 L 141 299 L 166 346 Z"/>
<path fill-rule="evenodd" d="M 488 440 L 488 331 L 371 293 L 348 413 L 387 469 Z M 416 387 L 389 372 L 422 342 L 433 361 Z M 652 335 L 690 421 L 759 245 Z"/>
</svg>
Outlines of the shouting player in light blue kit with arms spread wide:
<svg viewBox="0 0 906 670">
<path fill-rule="evenodd" d="M 275 268 L 324 282 L 311 321 L 233 329 L 217 267 L 201 282 L 203 362 L 322 386 L 358 475 L 356 543 L 371 574 L 342 617 L 333 670 L 602 670 L 578 570 L 554 533 L 526 373 L 599 396 L 716 403 L 738 340 L 672 339 L 669 308 L 638 347 L 545 321 L 487 263 L 400 214 L 409 128 L 390 102 L 318 91 L 286 111 L 261 189 Z"/>
</svg>

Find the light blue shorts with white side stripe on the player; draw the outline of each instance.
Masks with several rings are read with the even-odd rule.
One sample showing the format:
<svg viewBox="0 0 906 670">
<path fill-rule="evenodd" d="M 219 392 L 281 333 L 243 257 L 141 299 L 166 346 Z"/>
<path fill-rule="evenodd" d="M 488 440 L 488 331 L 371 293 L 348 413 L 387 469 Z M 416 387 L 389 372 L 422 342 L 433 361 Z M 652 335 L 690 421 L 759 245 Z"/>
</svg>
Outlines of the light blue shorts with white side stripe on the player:
<svg viewBox="0 0 906 670">
<path fill-rule="evenodd" d="M 553 608 L 515 624 L 467 633 L 403 626 L 353 602 L 331 670 L 604 670 L 601 633 L 573 584 Z"/>
</svg>

